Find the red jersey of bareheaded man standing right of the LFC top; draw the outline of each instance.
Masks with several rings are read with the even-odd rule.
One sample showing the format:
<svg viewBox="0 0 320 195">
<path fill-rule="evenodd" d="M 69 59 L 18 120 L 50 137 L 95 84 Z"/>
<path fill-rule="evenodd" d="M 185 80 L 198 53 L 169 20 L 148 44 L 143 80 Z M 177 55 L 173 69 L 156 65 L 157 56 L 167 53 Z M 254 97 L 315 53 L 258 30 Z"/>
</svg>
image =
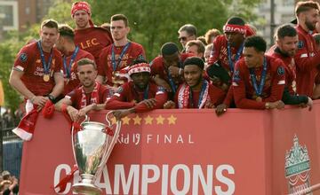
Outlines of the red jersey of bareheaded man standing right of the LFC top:
<svg viewBox="0 0 320 195">
<path fill-rule="evenodd" d="M 112 48 L 114 44 L 108 45 L 100 53 L 100 60 L 98 65 L 98 74 L 101 76 L 106 76 L 108 78 L 108 85 L 121 85 L 124 83 L 124 80 L 116 76 L 121 69 L 132 64 L 134 59 L 145 59 L 145 51 L 139 43 L 130 42 L 129 47 L 124 52 L 122 58 L 120 55 L 124 51 L 125 46 L 114 46 L 115 51 L 115 63 L 116 70 L 114 70 L 114 65 L 112 61 Z M 121 60 L 119 60 L 119 58 Z"/>
</svg>

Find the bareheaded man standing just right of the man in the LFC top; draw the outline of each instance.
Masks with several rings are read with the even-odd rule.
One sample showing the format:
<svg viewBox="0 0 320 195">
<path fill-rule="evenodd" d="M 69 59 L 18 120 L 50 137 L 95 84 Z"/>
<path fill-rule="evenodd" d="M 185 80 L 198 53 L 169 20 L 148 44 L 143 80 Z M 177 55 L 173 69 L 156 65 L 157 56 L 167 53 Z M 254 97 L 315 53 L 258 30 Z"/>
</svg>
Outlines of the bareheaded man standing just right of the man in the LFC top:
<svg viewBox="0 0 320 195">
<path fill-rule="evenodd" d="M 144 59 L 146 55 L 142 45 L 128 40 L 129 21 L 123 14 L 113 15 L 110 26 L 114 43 L 101 51 L 97 81 L 102 83 L 107 79 L 108 85 L 118 87 L 126 82 L 119 76 L 119 71 L 134 59 Z"/>
</svg>

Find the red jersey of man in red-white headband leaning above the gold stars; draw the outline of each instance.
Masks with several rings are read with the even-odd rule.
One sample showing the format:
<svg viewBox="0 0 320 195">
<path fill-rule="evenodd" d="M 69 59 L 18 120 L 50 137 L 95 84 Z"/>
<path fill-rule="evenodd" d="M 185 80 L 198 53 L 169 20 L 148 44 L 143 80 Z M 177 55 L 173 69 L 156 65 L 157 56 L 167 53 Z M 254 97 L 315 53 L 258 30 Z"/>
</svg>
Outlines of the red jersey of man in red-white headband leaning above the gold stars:
<svg viewBox="0 0 320 195">
<path fill-rule="evenodd" d="M 164 88 L 150 82 L 147 92 L 148 95 L 146 91 L 137 90 L 133 82 L 125 82 L 124 85 L 118 88 L 113 97 L 108 100 L 106 109 L 113 110 L 134 107 L 136 113 L 143 113 L 153 109 L 164 108 L 164 103 L 167 101 L 167 93 Z M 148 108 L 147 105 L 140 103 L 142 100 L 149 98 L 156 98 L 156 105 L 153 108 Z"/>
</svg>

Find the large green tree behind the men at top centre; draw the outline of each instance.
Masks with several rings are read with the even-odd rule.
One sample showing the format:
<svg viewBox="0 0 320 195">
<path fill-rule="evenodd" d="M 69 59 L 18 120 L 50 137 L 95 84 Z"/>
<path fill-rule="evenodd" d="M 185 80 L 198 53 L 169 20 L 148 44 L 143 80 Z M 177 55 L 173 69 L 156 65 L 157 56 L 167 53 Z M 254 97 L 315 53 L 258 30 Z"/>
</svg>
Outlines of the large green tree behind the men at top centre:
<svg viewBox="0 0 320 195">
<path fill-rule="evenodd" d="M 148 59 L 152 59 L 159 53 L 162 44 L 177 43 L 177 32 L 182 25 L 191 23 L 198 28 L 198 35 L 204 35 L 213 27 L 221 29 L 228 17 L 235 13 L 251 21 L 254 19 L 252 8 L 260 0 L 241 0 L 242 6 L 236 6 L 236 2 L 239 2 L 236 0 L 123 0 L 116 4 L 112 1 L 89 2 L 92 4 L 92 18 L 98 23 L 109 21 L 113 14 L 124 13 L 131 22 L 132 41 L 141 43 Z"/>
</svg>

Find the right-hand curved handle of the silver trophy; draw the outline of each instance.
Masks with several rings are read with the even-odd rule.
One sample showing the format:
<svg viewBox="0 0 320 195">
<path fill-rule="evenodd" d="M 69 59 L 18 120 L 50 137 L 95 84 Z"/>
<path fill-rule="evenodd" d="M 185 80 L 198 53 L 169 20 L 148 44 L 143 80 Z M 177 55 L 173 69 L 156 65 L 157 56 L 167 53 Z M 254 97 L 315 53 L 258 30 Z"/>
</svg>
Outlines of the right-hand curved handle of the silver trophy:
<svg viewBox="0 0 320 195">
<path fill-rule="evenodd" d="M 111 128 L 112 124 L 111 122 L 108 120 L 109 119 L 109 115 L 112 114 L 112 111 L 108 112 L 106 114 L 106 121 L 108 122 L 108 127 Z M 104 153 L 103 157 L 102 157 L 102 160 L 100 162 L 100 165 L 99 165 L 99 168 L 98 168 L 98 171 L 96 173 L 96 175 L 99 175 L 100 172 L 102 171 L 102 168 L 104 168 L 104 166 L 106 165 L 106 162 L 116 144 L 116 140 L 119 136 L 119 133 L 120 133 L 120 129 L 121 129 L 121 120 L 119 121 L 116 121 L 116 131 L 114 132 L 114 135 L 111 139 L 111 141 L 109 141 L 109 146 L 108 146 L 108 150 L 106 150 L 106 152 Z"/>
</svg>

